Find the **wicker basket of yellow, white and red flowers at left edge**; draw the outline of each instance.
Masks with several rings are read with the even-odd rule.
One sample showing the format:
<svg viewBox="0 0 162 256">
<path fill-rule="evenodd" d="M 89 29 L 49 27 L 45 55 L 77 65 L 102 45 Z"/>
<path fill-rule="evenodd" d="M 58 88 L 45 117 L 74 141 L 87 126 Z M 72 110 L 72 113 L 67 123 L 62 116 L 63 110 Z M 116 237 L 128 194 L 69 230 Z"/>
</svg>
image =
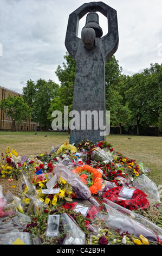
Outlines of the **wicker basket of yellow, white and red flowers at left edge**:
<svg viewBox="0 0 162 256">
<path fill-rule="evenodd" d="M 1 154 L 0 163 L 0 185 L 3 190 L 9 190 L 12 194 L 18 195 L 23 182 L 22 170 L 24 165 L 21 157 L 10 147 L 7 147 L 5 154 Z"/>
</svg>

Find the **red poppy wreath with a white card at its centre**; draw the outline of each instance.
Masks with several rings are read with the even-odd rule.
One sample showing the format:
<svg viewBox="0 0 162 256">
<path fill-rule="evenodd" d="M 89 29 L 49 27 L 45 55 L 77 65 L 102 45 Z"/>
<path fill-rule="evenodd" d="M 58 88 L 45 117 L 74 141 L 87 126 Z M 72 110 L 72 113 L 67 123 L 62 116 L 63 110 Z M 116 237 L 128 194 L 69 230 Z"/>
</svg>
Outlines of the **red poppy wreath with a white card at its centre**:
<svg viewBox="0 0 162 256">
<path fill-rule="evenodd" d="M 123 206 L 124 208 L 128 210 L 136 210 L 136 209 L 147 209 L 149 206 L 148 199 L 146 198 L 147 195 L 142 192 L 141 190 L 138 190 L 138 188 L 135 189 L 133 196 L 131 199 L 125 199 L 123 200 L 119 196 L 119 192 L 122 187 L 114 187 L 109 190 L 107 190 L 102 198 L 106 198 L 108 200 L 111 200 L 112 202 L 119 204 Z"/>
</svg>

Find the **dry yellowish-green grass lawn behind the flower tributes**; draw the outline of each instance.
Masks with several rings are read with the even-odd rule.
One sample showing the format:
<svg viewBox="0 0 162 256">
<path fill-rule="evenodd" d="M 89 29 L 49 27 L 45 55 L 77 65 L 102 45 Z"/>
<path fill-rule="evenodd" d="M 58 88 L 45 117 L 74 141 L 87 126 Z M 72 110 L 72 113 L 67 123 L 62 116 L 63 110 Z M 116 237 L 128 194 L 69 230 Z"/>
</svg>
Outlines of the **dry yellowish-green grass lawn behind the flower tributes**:
<svg viewBox="0 0 162 256">
<path fill-rule="evenodd" d="M 47 135 L 47 137 L 45 137 Z M 7 146 L 17 151 L 18 155 L 37 155 L 49 152 L 52 146 L 69 142 L 67 132 L 0 132 L 0 151 Z M 128 139 L 131 138 L 131 139 Z M 106 141 L 119 153 L 131 157 L 137 163 L 151 169 L 148 177 L 157 185 L 162 185 L 162 137 L 108 135 Z"/>
</svg>

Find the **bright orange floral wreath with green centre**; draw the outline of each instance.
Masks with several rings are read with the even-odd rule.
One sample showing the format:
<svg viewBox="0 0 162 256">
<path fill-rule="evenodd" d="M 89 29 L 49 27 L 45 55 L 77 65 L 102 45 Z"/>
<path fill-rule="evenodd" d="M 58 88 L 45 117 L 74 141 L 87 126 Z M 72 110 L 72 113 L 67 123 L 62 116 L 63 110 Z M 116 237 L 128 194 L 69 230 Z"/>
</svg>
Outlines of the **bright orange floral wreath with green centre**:
<svg viewBox="0 0 162 256">
<path fill-rule="evenodd" d="M 98 169 L 85 164 L 72 170 L 73 173 L 79 174 L 82 182 L 89 187 L 92 194 L 97 194 L 102 188 L 102 174 Z"/>
</svg>

